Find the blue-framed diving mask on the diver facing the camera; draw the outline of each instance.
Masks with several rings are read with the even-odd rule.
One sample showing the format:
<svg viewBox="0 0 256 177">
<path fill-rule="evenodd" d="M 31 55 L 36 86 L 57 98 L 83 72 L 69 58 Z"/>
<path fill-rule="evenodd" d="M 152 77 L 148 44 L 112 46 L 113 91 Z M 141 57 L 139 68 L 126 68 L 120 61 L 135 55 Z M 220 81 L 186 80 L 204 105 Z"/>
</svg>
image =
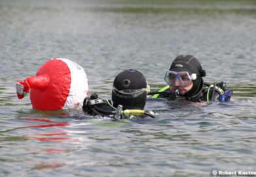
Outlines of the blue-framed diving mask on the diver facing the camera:
<svg viewBox="0 0 256 177">
<path fill-rule="evenodd" d="M 172 71 L 168 71 L 165 73 L 165 82 L 172 86 L 175 83 L 175 80 L 179 79 L 180 83 L 182 83 L 182 85 L 184 85 L 184 87 L 186 87 L 187 85 L 189 85 L 189 83 L 191 83 L 191 80 L 195 80 L 197 79 L 197 74 L 191 74 L 189 75 L 188 72 L 172 72 Z"/>
</svg>

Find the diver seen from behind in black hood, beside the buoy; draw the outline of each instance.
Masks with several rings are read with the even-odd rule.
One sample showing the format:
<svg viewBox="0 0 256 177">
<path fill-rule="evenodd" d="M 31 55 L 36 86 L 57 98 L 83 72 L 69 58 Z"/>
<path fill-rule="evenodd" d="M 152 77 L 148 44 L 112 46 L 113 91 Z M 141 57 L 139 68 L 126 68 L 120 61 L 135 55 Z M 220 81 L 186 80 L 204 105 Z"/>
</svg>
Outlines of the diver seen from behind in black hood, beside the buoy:
<svg viewBox="0 0 256 177">
<path fill-rule="evenodd" d="M 93 93 L 84 99 L 82 108 L 86 114 L 114 119 L 154 117 L 152 111 L 144 111 L 148 92 L 150 92 L 150 87 L 142 73 L 137 70 L 124 70 L 114 79 L 113 103 Z"/>
</svg>

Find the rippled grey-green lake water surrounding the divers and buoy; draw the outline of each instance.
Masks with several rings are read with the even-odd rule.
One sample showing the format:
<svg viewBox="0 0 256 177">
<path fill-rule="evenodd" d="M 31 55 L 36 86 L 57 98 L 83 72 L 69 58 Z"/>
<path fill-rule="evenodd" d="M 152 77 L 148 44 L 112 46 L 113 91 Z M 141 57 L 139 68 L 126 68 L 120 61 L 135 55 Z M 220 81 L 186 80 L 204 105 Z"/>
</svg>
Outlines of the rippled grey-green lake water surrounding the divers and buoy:
<svg viewBox="0 0 256 177">
<path fill-rule="evenodd" d="M 255 171 L 256 1 L 0 1 L 0 176 L 210 176 Z M 149 99 L 155 119 L 112 122 L 80 111 L 37 111 L 16 80 L 55 57 L 111 98 L 114 77 L 140 70 L 152 90 L 180 54 L 231 103 Z"/>
</svg>

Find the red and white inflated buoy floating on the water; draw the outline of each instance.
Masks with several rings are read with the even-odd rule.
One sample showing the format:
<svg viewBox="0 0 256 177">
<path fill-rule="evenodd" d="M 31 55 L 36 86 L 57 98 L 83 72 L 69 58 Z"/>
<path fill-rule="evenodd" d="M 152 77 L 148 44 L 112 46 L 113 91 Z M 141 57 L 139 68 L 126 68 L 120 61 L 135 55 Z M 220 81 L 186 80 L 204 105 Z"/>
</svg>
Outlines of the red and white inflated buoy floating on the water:
<svg viewBox="0 0 256 177">
<path fill-rule="evenodd" d="M 84 69 L 69 59 L 50 59 L 37 74 L 16 82 L 19 99 L 30 91 L 34 109 L 82 109 L 88 96 L 88 77 Z"/>
</svg>

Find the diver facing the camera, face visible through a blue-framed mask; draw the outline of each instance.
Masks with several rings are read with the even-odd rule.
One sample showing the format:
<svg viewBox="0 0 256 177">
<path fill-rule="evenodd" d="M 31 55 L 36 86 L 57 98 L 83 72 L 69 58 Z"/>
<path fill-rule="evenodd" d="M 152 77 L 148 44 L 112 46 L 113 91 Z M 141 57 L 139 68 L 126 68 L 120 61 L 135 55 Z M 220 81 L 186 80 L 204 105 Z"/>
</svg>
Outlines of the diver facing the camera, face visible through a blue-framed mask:
<svg viewBox="0 0 256 177">
<path fill-rule="evenodd" d="M 192 55 L 178 55 L 165 73 L 166 87 L 157 92 L 150 92 L 152 98 L 170 100 L 191 100 L 193 102 L 221 101 L 229 102 L 232 90 L 227 90 L 225 83 L 204 83 L 202 77 L 206 71 Z"/>
</svg>

